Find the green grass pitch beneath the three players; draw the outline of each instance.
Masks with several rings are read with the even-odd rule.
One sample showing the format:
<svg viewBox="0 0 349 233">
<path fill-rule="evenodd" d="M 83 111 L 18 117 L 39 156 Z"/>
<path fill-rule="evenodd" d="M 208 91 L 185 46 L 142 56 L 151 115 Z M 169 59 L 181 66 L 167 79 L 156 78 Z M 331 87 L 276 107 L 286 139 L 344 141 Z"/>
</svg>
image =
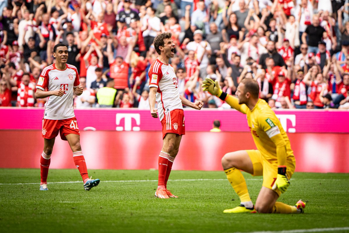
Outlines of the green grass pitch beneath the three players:
<svg viewBox="0 0 349 233">
<path fill-rule="evenodd" d="M 39 169 L 0 169 L 0 232 L 349 232 L 349 174 L 295 173 L 279 200 L 304 214 L 224 214 L 239 198 L 223 171 L 172 171 L 171 199 L 154 197 L 157 170 L 89 175 L 101 183 L 85 191 L 77 169 L 50 169 L 39 191 Z M 261 177 L 244 176 L 255 202 Z"/>
</svg>

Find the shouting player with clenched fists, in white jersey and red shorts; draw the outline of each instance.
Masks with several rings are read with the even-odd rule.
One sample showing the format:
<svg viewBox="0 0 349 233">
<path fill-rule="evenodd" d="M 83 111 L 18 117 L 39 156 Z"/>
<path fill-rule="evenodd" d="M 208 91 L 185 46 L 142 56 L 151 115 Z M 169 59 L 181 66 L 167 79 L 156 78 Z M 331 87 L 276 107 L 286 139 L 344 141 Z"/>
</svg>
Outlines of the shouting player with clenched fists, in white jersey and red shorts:
<svg viewBox="0 0 349 233">
<path fill-rule="evenodd" d="M 159 57 L 151 64 L 148 73 L 150 114 L 154 118 L 159 117 L 162 123 L 163 146 L 158 158 L 159 176 L 155 192 L 155 197 L 158 198 L 177 197 L 167 189 L 166 184 L 179 150 L 180 140 L 185 134 L 182 104 L 199 110 L 203 105 L 202 101 L 193 103 L 179 95 L 177 77 L 169 64 L 176 46 L 171 37 L 169 32 L 155 37 L 154 46 Z"/>
</svg>

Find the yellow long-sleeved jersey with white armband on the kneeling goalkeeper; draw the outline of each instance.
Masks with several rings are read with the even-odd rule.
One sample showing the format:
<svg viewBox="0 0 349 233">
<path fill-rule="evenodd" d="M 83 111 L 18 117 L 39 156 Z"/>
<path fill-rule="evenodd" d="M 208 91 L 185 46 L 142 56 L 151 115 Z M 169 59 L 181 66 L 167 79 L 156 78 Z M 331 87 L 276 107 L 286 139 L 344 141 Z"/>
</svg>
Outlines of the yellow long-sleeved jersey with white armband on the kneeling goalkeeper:
<svg viewBox="0 0 349 233">
<path fill-rule="evenodd" d="M 248 128 L 251 131 L 253 140 L 257 149 L 269 161 L 277 161 L 276 144 L 270 138 L 277 134 L 281 134 L 282 139 L 286 143 L 287 160 L 294 161 L 294 154 L 291 149 L 290 140 L 281 126 L 275 112 L 269 107 L 267 102 L 259 99 L 257 104 L 250 110 L 246 104 L 238 104 L 238 99 L 234 96 L 229 96 L 231 107 L 246 114 Z M 281 140 L 282 140 L 281 139 Z"/>
</svg>

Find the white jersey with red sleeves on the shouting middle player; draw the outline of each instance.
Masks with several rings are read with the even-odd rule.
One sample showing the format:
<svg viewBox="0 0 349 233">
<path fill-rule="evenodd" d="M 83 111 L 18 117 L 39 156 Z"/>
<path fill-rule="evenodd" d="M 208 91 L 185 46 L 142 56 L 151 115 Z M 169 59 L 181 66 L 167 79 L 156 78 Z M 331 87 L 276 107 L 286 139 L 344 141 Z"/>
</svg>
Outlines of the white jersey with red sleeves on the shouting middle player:
<svg viewBox="0 0 349 233">
<path fill-rule="evenodd" d="M 156 87 L 157 111 L 160 121 L 164 114 L 173 109 L 183 109 L 179 98 L 176 73 L 171 65 L 163 64 L 156 59 L 149 68 L 149 88 Z"/>
</svg>

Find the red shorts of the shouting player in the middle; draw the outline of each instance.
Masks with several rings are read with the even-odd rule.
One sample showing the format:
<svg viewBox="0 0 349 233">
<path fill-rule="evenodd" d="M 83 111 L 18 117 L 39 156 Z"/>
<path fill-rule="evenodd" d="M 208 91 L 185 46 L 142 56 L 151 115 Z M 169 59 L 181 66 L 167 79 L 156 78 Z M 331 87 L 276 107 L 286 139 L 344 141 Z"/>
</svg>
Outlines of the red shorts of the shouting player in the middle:
<svg viewBox="0 0 349 233">
<path fill-rule="evenodd" d="M 162 119 L 161 124 L 163 139 L 166 133 L 176 133 L 178 135 L 185 134 L 183 109 L 174 109 L 165 113 L 165 116 Z"/>
</svg>

